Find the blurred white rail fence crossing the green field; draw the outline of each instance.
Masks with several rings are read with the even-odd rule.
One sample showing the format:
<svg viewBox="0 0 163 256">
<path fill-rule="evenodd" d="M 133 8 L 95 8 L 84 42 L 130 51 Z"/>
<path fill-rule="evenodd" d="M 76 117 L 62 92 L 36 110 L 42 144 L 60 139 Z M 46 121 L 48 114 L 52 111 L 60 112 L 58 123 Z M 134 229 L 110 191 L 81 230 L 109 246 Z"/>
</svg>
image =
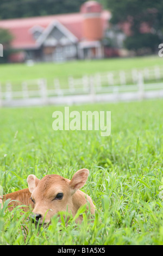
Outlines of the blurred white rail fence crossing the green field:
<svg viewBox="0 0 163 256">
<path fill-rule="evenodd" d="M 69 77 L 65 87 L 56 78 L 50 86 L 45 79 L 24 81 L 19 90 L 7 82 L 0 86 L 0 106 L 64 105 L 163 97 L 162 71 L 162 66 L 155 66 L 82 78 Z"/>
</svg>

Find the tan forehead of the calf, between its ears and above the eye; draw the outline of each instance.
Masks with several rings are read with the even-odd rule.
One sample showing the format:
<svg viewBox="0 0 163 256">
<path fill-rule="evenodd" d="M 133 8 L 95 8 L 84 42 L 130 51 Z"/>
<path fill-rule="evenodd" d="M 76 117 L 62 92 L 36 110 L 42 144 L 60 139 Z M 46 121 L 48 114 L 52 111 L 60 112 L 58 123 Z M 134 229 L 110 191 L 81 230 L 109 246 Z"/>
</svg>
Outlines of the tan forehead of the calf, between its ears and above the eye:
<svg viewBox="0 0 163 256">
<path fill-rule="evenodd" d="M 59 193 L 69 189 L 68 180 L 57 174 L 46 175 L 43 177 L 36 187 L 36 192 L 42 196 L 51 196 L 51 194 Z"/>
</svg>

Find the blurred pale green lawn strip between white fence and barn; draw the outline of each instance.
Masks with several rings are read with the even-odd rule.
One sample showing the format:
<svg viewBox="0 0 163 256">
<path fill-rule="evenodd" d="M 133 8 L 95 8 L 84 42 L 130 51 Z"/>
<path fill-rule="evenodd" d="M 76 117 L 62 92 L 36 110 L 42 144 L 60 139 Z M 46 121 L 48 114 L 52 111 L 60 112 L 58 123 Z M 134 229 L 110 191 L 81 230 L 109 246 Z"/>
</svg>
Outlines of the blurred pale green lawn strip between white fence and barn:
<svg viewBox="0 0 163 256">
<path fill-rule="evenodd" d="M 146 66 L 162 65 L 162 58 L 158 56 L 135 58 L 111 58 L 104 60 L 73 61 L 62 64 L 38 63 L 34 66 L 26 64 L 1 64 L 0 82 L 10 81 L 17 84 L 24 80 L 37 78 L 59 78 L 67 82 L 68 76 L 82 77 L 83 75 L 96 74 L 111 70 L 126 70 L 132 68 L 144 68 Z"/>
</svg>

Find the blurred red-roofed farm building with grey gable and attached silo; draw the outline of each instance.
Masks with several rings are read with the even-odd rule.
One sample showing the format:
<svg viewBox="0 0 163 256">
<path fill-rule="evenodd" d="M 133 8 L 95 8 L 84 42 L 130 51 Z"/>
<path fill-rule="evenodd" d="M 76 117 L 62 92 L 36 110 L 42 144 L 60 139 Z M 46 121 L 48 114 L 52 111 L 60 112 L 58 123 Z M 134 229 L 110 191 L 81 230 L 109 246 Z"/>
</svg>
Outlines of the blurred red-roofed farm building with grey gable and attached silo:
<svg viewBox="0 0 163 256">
<path fill-rule="evenodd" d="M 14 36 L 12 62 L 60 62 L 105 56 L 103 38 L 111 14 L 96 1 L 85 2 L 79 13 L 2 20 L 0 27 Z"/>
</svg>

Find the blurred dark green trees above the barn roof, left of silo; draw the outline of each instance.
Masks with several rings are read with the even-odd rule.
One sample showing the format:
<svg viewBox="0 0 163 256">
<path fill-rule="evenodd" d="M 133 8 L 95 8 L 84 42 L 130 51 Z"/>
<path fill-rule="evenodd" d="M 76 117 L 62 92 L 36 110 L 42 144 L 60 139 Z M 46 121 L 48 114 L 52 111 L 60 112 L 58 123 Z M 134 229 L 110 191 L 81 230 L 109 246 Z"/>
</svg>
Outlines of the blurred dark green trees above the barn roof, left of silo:
<svg viewBox="0 0 163 256">
<path fill-rule="evenodd" d="M 85 0 L 1 0 L 0 19 L 78 12 Z"/>
</svg>

